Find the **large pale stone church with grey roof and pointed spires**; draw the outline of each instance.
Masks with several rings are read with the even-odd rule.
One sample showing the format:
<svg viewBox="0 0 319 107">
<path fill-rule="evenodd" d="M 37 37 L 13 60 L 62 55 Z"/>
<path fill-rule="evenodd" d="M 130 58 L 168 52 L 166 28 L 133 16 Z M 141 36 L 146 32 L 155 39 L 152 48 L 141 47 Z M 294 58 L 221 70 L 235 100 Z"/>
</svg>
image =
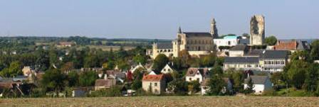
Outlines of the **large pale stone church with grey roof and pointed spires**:
<svg viewBox="0 0 319 107">
<path fill-rule="evenodd" d="M 152 59 L 155 59 L 159 54 L 164 54 L 167 57 L 178 57 L 182 50 L 197 57 L 209 55 L 215 49 L 214 38 L 218 38 L 218 33 L 213 18 L 210 32 L 183 32 L 179 27 L 177 39 L 172 40 L 172 43 L 154 43 L 152 50 L 147 51 L 147 55 L 150 55 Z"/>
</svg>

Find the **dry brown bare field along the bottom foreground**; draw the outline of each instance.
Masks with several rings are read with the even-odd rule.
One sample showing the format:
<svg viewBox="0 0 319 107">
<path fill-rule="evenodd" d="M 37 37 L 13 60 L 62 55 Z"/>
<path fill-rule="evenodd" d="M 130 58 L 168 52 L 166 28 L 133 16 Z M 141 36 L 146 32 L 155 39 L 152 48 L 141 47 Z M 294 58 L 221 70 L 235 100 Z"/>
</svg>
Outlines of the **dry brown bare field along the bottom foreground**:
<svg viewBox="0 0 319 107">
<path fill-rule="evenodd" d="M 0 98 L 0 106 L 319 106 L 316 97 L 137 96 L 98 98 Z"/>
</svg>

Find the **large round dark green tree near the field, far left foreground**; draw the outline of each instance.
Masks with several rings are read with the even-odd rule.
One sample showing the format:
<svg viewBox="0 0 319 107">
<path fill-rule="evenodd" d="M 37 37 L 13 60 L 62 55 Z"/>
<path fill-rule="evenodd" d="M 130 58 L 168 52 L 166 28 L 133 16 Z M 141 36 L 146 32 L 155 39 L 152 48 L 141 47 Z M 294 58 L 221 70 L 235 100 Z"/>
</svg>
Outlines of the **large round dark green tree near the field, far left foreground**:
<svg viewBox="0 0 319 107">
<path fill-rule="evenodd" d="M 46 91 L 55 91 L 56 95 L 68 84 L 67 77 L 58 69 L 48 69 L 41 80 Z"/>
</svg>

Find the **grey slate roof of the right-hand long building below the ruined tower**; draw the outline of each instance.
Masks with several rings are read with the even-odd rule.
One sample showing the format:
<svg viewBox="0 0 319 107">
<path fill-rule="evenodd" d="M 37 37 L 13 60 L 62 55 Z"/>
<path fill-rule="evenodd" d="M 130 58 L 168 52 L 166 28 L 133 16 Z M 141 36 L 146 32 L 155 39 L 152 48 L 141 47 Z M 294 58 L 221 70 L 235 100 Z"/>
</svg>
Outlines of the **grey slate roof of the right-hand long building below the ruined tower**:
<svg viewBox="0 0 319 107">
<path fill-rule="evenodd" d="M 287 57 L 287 50 L 264 50 L 260 55 L 261 59 L 286 59 Z"/>
</svg>

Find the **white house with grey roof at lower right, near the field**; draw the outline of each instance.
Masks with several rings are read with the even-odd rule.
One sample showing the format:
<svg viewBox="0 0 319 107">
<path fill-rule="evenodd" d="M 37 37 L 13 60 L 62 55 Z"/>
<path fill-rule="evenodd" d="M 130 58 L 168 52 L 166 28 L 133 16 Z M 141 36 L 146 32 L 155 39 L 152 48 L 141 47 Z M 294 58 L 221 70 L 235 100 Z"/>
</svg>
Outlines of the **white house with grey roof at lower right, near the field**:
<svg viewBox="0 0 319 107">
<path fill-rule="evenodd" d="M 268 76 L 249 76 L 244 82 L 244 89 L 248 88 L 249 78 L 253 81 L 253 91 L 255 94 L 262 94 L 263 91 L 267 91 L 273 88 L 273 83 Z"/>
</svg>

